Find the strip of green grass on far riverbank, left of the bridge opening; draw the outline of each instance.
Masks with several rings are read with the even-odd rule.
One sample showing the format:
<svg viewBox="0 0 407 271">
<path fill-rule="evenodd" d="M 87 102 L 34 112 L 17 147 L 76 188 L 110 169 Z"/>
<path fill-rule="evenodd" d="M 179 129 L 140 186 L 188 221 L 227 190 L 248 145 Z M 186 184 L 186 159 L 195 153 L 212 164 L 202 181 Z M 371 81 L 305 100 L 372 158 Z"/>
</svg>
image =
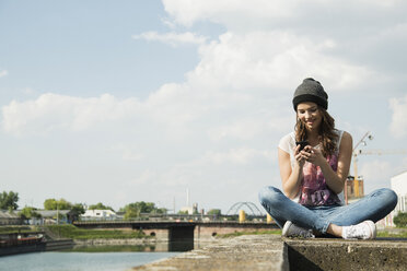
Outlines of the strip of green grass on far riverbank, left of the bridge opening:
<svg viewBox="0 0 407 271">
<path fill-rule="evenodd" d="M 141 231 L 84 229 L 73 225 L 46 226 L 55 235 L 72 239 L 125 239 L 149 237 Z"/>
</svg>

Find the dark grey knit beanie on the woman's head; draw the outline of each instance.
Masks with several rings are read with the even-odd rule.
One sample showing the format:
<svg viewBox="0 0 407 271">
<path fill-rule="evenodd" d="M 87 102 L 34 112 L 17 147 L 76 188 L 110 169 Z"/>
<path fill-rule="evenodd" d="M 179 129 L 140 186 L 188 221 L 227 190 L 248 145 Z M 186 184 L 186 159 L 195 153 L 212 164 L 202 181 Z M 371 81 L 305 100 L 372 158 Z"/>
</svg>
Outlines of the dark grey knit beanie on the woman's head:
<svg viewBox="0 0 407 271">
<path fill-rule="evenodd" d="M 321 83 L 312 78 L 304 79 L 294 92 L 292 104 L 295 111 L 296 106 L 303 102 L 313 102 L 325 108 L 325 110 L 328 109 L 328 94 L 324 91 Z"/>
</svg>

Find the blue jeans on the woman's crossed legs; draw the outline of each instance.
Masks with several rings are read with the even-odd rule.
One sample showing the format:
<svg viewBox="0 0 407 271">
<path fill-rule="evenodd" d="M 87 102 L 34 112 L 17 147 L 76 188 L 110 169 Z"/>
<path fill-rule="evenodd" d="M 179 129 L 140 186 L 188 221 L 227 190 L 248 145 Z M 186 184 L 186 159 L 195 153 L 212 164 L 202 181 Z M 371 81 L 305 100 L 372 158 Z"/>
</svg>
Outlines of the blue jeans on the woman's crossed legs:
<svg viewBox="0 0 407 271">
<path fill-rule="evenodd" d="M 283 227 L 287 221 L 326 234 L 329 224 L 349 226 L 365 220 L 374 223 L 385 217 L 397 204 L 397 195 L 387 188 L 377 189 L 348 205 L 304 207 L 287 198 L 275 187 L 265 187 L 258 195 L 261 205 Z"/>
</svg>

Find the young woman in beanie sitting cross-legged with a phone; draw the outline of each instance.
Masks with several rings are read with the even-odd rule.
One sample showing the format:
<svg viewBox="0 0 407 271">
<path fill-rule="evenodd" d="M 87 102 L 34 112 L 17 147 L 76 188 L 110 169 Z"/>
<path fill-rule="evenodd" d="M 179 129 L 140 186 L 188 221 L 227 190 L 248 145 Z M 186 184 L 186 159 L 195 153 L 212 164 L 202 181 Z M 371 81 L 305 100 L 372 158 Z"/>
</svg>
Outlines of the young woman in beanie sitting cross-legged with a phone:
<svg viewBox="0 0 407 271">
<path fill-rule="evenodd" d="M 282 228 L 282 236 L 375 238 L 374 223 L 396 207 L 396 193 L 379 189 L 344 205 L 352 138 L 335 129 L 335 120 L 326 111 L 328 95 L 318 81 L 305 79 L 292 102 L 295 130 L 283 137 L 278 148 L 283 192 L 264 188 L 259 192 L 261 205 Z"/>
</svg>

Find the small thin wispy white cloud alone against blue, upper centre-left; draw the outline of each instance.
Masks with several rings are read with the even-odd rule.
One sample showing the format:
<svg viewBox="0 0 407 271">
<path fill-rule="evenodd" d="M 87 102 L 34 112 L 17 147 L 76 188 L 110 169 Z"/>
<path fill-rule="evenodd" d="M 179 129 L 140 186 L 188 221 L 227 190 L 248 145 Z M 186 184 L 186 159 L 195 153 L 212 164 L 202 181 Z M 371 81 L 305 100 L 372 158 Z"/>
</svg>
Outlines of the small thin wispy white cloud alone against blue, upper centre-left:
<svg viewBox="0 0 407 271">
<path fill-rule="evenodd" d="M 174 47 L 188 44 L 201 45 L 205 44 L 205 42 L 207 40 L 207 37 L 190 32 L 185 33 L 171 32 L 165 34 L 159 34 L 156 32 L 146 32 L 140 35 L 133 35 L 132 38 L 160 42 L 164 44 L 170 44 L 171 46 Z"/>
</svg>

